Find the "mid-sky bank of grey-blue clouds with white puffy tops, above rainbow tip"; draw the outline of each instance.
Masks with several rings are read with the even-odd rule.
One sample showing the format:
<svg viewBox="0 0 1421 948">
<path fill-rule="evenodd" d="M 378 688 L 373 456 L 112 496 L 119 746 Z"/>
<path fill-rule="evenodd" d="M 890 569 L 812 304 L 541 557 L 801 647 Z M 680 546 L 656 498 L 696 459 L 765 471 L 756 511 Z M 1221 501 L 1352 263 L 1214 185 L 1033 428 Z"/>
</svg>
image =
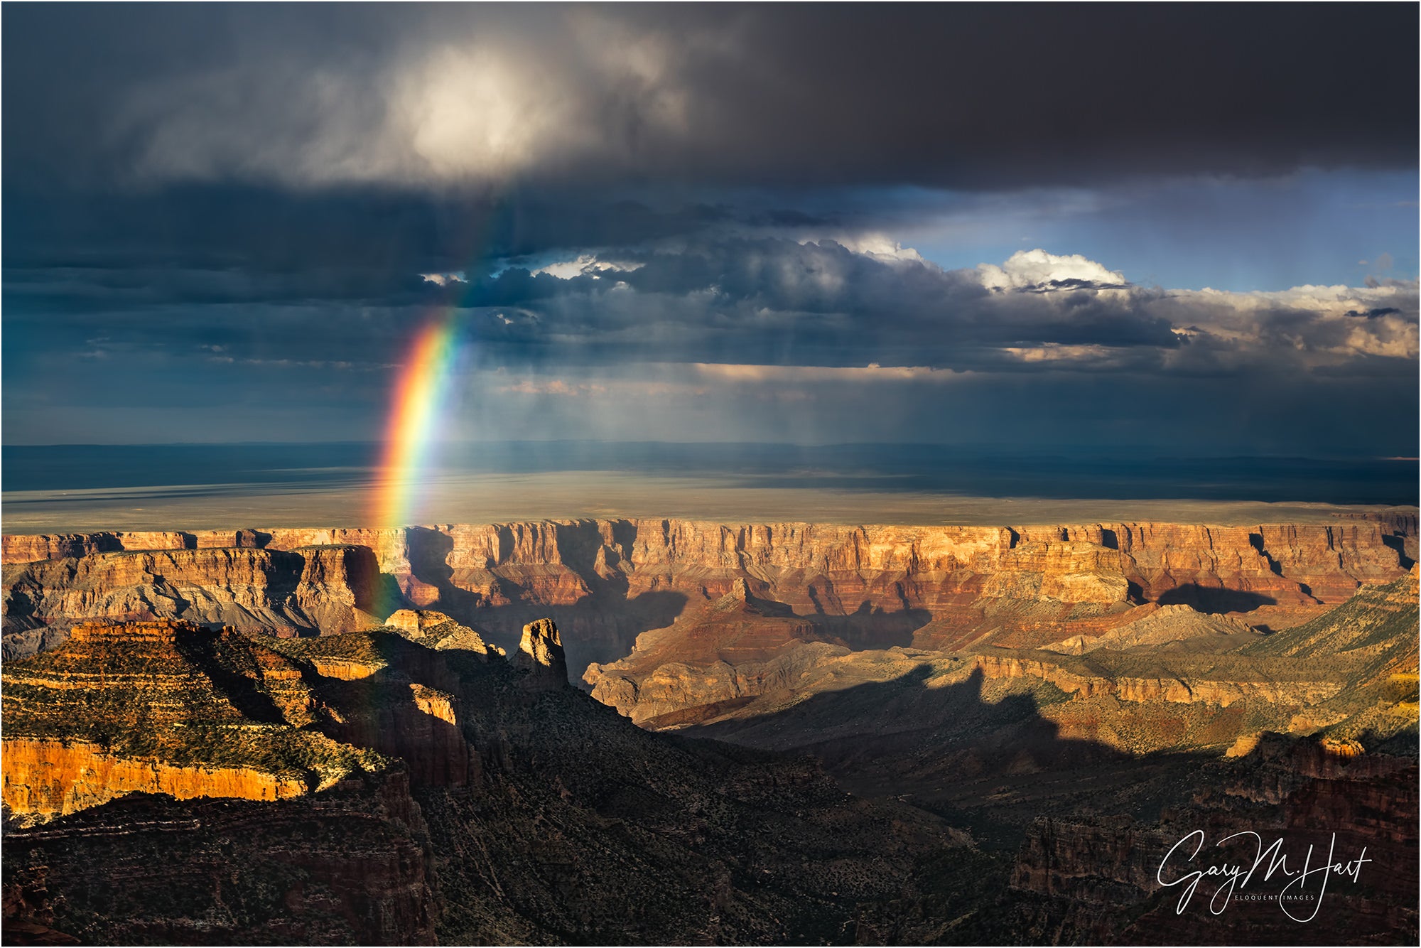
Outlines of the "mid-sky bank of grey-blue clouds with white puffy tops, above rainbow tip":
<svg viewBox="0 0 1421 948">
<path fill-rule="evenodd" d="M 360 300 L 351 298 L 358 286 L 323 281 L 318 270 L 269 283 L 239 271 L 53 270 L 40 273 L 48 280 L 7 281 L 16 314 L 7 327 L 54 347 L 156 345 L 229 361 L 280 352 L 348 365 L 388 365 L 411 328 L 436 313 L 456 313 L 486 358 L 510 364 L 1221 375 L 1415 357 L 1415 286 L 1398 281 L 1282 294 L 1165 291 L 1043 252 L 1002 267 L 944 270 L 912 256 L 784 239 L 627 247 L 557 269 L 442 283 L 414 273 L 371 279 Z M 1400 306 L 1370 306 L 1381 300 Z M 1377 316 L 1350 318 L 1358 306 Z M 104 341 L 91 344 L 97 338 Z"/>
</svg>

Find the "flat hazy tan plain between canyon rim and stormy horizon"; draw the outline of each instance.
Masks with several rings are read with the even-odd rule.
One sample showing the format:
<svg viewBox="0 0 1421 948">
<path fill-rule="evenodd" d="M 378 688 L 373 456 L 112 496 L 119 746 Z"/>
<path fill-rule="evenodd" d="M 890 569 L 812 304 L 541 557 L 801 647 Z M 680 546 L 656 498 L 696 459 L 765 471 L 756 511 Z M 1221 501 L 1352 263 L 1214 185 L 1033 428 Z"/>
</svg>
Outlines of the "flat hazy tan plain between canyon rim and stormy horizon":
<svg viewBox="0 0 1421 948">
<path fill-rule="evenodd" d="M 0 524 L 6 533 L 382 526 L 377 453 L 369 445 L 6 448 Z M 877 446 L 504 445 L 446 462 L 415 485 L 408 523 L 1316 523 L 1414 507 L 1417 483 L 1405 460 L 1080 462 Z"/>
</svg>

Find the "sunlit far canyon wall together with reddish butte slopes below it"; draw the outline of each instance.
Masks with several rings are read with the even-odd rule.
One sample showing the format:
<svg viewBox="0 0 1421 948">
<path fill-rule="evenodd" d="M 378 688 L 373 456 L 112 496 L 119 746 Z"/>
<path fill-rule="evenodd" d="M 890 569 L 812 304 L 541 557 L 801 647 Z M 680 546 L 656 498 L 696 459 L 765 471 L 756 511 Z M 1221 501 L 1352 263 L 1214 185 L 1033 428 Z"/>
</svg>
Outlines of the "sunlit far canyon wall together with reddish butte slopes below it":
<svg viewBox="0 0 1421 948">
<path fill-rule="evenodd" d="M 1194 665 L 1106 674 L 1052 652 L 1235 650 L 1253 630 L 1295 625 L 1363 584 L 1407 576 L 1415 517 L 999 529 L 581 520 L 4 544 L 9 654 L 87 617 L 330 634 L 412 605 L 507 654 L 522 654 L 522 630 L 550 615 L 573 674 L 585 669 L 594 694 L 637 721 L 693 723 L 726 713 L 726 702 L 804 694 L 800 678 L 824 678 L 806 657 L 826 654 L 803 650 L 824 644 L 978 655 L 963 668 L 1081 698 L 1276 699 L 1306 728 L 1334 722 L 1309 716 L 1337 694 L 1334 677 L 1223 679 Z M 139 544 L 161 549 L 131 549 Z M 40 554 L 58 559 L 20 561 Z M 344 659 L 313 661 L 333 669 Z"/>
</svg>

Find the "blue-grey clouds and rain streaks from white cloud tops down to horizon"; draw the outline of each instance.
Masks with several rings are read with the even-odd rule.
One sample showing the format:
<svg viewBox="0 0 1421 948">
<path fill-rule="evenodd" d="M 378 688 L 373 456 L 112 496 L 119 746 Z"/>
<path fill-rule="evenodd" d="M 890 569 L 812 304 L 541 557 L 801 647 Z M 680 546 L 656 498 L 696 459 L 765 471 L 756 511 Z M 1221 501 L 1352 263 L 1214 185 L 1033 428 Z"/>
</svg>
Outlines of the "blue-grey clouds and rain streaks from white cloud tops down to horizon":
<svg viewBox="0 0 1421 948">
<path fill-rule="evenodd" d="M 129 399 L 229 411 L 240 387 L 257 399 L 253 411 L 269 392 L 345 419 L 323 428 L 325 438 L 360 439 L 358 412 L 378 426 L 377 379 L 416 327 L 452 314 L 472 365 L 460 382 L 463 436 L 843 442 L 1071 432 L 1088 443 L 1147 435 L 1201 451 L 1225 442 L 1289 451 L 1322 426 L 1329 443 L 1356 451 L 1368 438 L 1391 453 L 1414 445 L 1415 281 L 1165 290 L 1046 250 L 949 270 L 790 239 L 614 247 L 539 270 L 442 284 L 426 277 L 449 271 L 411 270 L 360 301 L 209 301 L 202 320 L 182 296 L 40 311 L 13 306 L 26 297 L 7 283 L 6 328 L 9 340 L 43 327 L 48 345 L 21 367 L 41 375 L 72 378 L 75 354 L 104 340 L 114 358 L 102 378 L 75 379 L 68 398 L 101 385 Z M 1003 284 L 1002 274 L 1016 279 Z M 64 291 L 75 280 L 68 274 Z M 90 293 L 112 297 L 112 289 Z M 352 391 L 348 378 L 361 370 L 374 384 Z M 7 384 L 7 412 L 21 411 L 28 389 Z M 1141 431 L 1150 406 L 1185 415 Z"/>
</svg>

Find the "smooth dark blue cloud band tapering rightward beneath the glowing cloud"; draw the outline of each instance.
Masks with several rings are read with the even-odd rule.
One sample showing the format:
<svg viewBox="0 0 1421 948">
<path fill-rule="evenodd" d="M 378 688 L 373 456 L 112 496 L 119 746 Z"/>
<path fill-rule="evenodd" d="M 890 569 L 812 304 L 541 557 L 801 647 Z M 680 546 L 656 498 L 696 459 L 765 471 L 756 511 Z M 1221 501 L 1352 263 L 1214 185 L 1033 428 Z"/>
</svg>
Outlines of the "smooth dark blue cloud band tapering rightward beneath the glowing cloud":
<svg viewBox="0 0 1421 948">
<path fill-rule="evenodd" d="M 388 188 L 293 193 L 256 186 L 27 193 L 6 181 L 4 263 L 14 270 L 175 267 L 296 274 L 429 273 L 567 247 L 625 246 L 753 225 L 757 212 L 551 190 L 438 198 Z M 813 219 L 811 219 L 813 220 Z"/>
</svg>

